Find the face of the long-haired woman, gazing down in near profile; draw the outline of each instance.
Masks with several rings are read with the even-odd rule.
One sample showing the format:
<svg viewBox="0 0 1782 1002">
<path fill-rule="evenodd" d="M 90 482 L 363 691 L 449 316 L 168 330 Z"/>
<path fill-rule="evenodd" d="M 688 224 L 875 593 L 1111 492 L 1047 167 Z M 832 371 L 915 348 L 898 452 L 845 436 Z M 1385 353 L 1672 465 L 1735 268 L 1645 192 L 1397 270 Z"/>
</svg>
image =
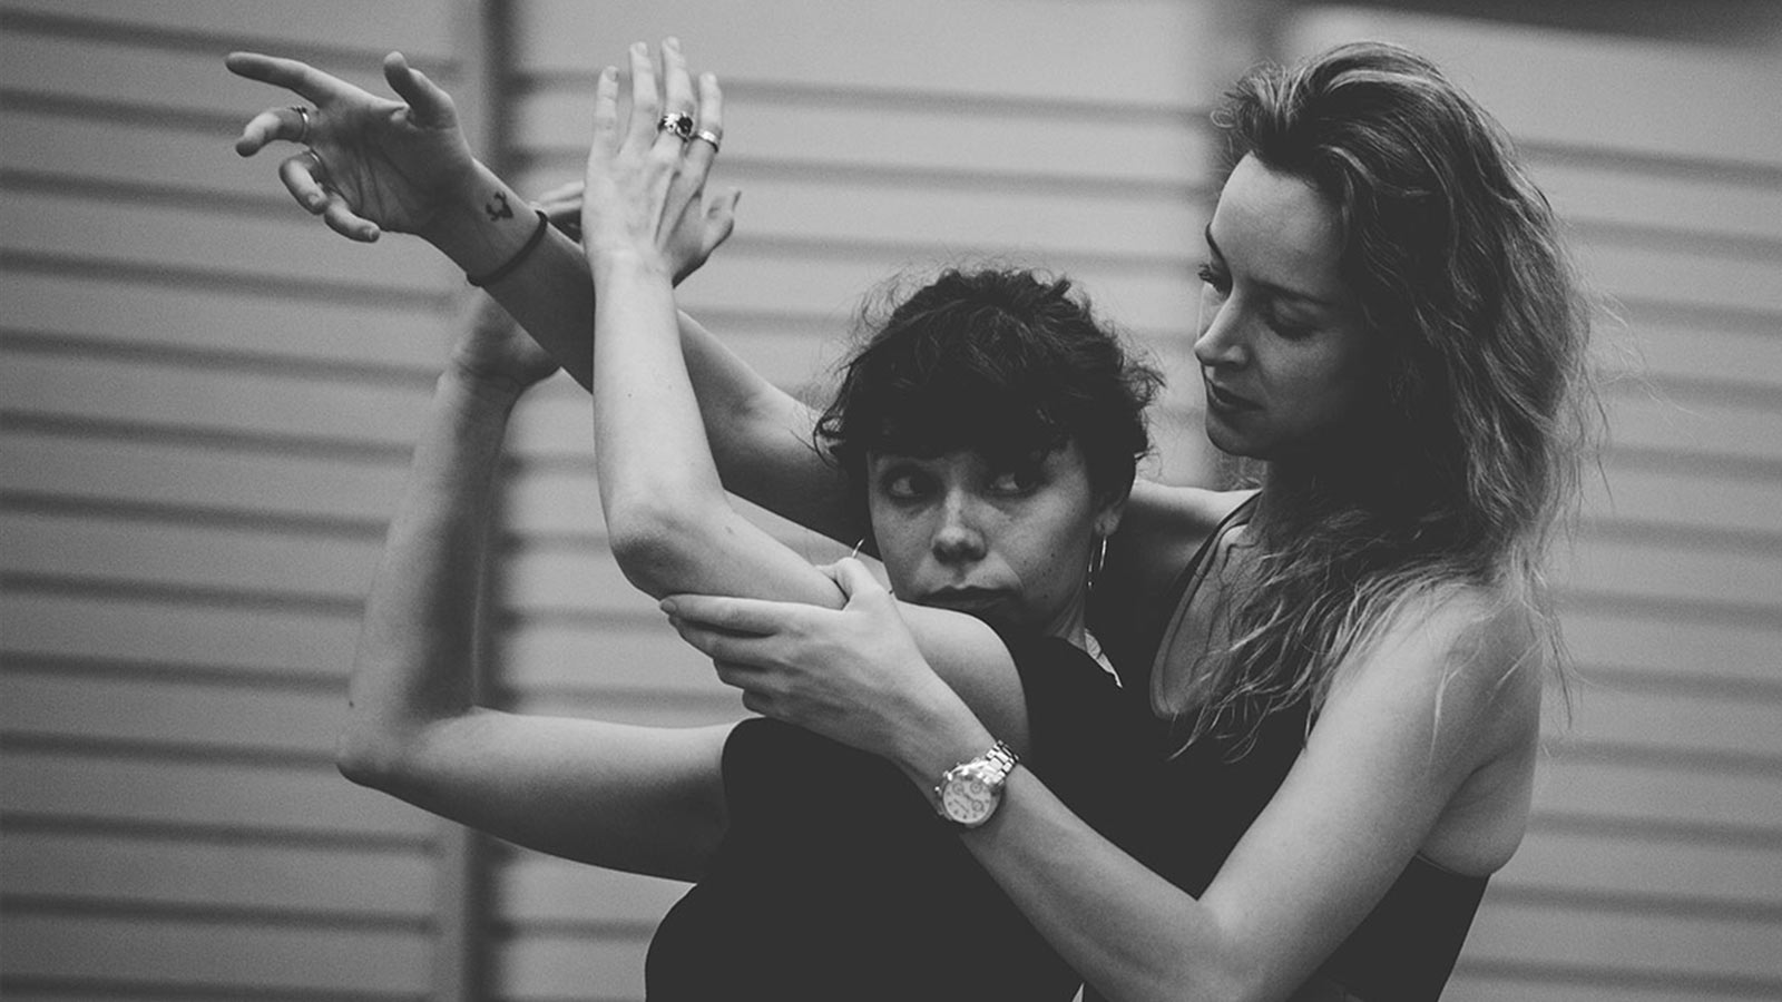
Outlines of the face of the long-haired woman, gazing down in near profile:
<svg viewBox="0 0 1782 1002">
<path fill-rule="evenodd" d="M 1244 157 L 1206 251 L 1194 342 L 1206 437 L 1240 456 L 1304 455 L 1377 387 L 1372 339 L 1338 269 L 1336 210 L 1310 184 Z"/>
</svg>

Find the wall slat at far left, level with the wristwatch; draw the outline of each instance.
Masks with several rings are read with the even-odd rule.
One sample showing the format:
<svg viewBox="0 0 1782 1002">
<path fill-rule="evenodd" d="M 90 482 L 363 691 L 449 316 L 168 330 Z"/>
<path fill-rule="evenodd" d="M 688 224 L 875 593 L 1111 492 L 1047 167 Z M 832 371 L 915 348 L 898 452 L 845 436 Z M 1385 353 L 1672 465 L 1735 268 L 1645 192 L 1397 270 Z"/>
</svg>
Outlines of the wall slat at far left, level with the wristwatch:
<svg viewBox="0 0 1782 1002">
<path fill-rule="evenodd" d="M 353 786 L 333 765 L 150 761 L 9 747 L 0 788 L 7 811 L 62 822 L 413 840 L 437 825 L 415 808 Z"/>
</svg>

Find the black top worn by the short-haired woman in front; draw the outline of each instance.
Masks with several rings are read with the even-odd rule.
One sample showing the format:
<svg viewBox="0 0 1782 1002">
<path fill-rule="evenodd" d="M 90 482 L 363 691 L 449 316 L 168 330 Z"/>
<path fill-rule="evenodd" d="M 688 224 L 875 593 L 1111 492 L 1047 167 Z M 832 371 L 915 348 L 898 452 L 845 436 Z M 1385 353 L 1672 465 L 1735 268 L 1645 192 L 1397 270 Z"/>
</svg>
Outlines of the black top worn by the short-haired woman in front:
<svg viewBox="0 0 1782 1002">
<path fill-rule="evenodd" d="M 1140 856 L 1160 825 L 1148 715 L 1087 654 L 1003 637 L 1021 672 L 1032 768 Z M 1139 763 L 1139 765 L 1135 765 Z M 729 827 L 709 874 L 663 918 L 650 1002 L 989 998 L 1067 1002 L 1082 979 L 887 761 L 773 720 L 723 749 Z"/>
</svg>

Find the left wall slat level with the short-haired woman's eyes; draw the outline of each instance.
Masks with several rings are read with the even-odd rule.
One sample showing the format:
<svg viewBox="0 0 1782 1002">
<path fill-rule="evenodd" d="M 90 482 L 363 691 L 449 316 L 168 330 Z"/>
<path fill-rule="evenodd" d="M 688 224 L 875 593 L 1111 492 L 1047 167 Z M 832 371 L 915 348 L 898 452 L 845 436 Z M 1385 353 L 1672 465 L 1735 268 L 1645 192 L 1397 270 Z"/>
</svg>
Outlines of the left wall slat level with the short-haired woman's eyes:
<svg viewBox="0 0 1782 1002">
<path fill-rule="evenodd" d="M 103 442 L 12 431 L 0 439 L 7 490 L 109 505 L 157 505 L 380 524 L 396 510 L 399 460 L 219 453 L 169 442 Z"/>
</svg>

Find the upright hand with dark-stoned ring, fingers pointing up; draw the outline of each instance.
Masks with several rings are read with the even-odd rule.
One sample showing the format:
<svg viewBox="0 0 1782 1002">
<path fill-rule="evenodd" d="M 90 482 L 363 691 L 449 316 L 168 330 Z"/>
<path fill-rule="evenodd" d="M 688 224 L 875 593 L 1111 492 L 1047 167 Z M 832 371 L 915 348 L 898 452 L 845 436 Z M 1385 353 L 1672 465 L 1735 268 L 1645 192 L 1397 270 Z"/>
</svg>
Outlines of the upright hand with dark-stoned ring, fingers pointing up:
<svg viewBox="0 0 1782 1002">
<path fill-rule="evenodd" d="M 661 59 L 663 93 L 658 94 L 649 48 L 643 43 L 631 46 L 631 118 L 624 125 L 618 71 L 611 66 L 601 71 L 581 237 L 590 262 L 636 255 L 679 282 L 731 235 L 740 193 L 706 198 L 706 177 L 723 136 L 723 94 L 716 77 L 700 75 L 695 107 L 681 45 L 665 41 Z"/>
</svg>

